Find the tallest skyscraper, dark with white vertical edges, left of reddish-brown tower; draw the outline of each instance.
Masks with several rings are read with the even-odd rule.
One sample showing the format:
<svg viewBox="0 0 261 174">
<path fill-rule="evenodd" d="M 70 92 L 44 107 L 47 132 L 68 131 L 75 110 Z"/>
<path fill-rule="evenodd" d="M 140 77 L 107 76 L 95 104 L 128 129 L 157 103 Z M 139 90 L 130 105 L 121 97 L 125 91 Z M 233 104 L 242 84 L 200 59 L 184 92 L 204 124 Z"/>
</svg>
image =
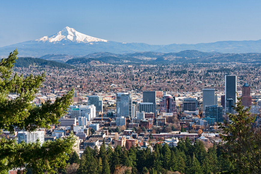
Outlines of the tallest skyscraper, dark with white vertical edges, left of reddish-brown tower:
<svg viewBox="0 0 261 174">
<path fill-rule="evenodd" d="M 225 75 L 225 101 L 227 99 L 233 99 L 234 103 L 236 103 L 237 102 L 236 92 L 237 92 L 237 76 Z M 227 108 L 226 103 L 225 103 L 225 108 Z"/>
</svg>

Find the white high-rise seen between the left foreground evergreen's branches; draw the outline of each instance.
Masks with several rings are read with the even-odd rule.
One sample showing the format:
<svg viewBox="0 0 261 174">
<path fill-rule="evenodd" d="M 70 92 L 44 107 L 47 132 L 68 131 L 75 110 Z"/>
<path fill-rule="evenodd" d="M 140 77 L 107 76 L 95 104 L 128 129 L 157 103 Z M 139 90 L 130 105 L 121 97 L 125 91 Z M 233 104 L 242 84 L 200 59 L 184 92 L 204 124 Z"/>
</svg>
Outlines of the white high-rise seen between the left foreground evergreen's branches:
<svg viewBox="0 0 261 174">
<path fill-rule="evenodd" d="M 18 143 L 22 141 L 26 143 L 37 142 L 37 139 L 39 139 L 42 145 L 44 143 L 44 131 L 34 131 L 34 132 L 19 131 L 17 133 L 17 138 L 18 138 Z"/>
</svg>

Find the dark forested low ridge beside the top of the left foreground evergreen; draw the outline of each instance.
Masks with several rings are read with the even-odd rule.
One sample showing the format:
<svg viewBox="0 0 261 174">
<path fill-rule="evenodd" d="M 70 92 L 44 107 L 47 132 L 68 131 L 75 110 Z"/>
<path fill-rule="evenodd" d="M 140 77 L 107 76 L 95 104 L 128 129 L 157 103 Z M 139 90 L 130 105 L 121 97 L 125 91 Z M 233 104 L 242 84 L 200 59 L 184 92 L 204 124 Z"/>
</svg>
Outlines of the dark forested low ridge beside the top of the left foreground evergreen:
<svg viewBox="0 0 261 174">
<path fill-rule="evenodd" d="M 44 60 L 44 59 L 38 59 L 38 58 L 32 58 L 32 57 L 20 57 L 16 60 L 16 63 L 14 64 L 15 67 L 26 67 L 29 66 L 42 66 L 45 68 L 46 66 L 52 68 L 66 68 L 66 69 L 74 69 L 74 66 L 68 65 L 66 63 L 60 63 L 52 60 Z"/>
</svg>

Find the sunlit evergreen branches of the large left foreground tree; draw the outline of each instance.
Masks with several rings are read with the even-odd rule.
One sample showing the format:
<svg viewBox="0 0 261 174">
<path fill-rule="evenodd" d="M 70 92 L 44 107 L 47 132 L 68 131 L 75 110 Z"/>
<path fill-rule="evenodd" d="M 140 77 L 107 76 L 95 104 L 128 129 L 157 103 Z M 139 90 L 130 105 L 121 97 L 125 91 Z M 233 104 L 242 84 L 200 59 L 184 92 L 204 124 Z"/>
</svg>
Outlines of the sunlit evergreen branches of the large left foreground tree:
<svg viewBox="0 0 261 174">
<path fill-rule="evenodd" d="M 2 130 L 14 132 L 17 127 L 20 130 L 34 131 L 37 128 L 50 128 L 50 124 L 58 124 L 58 119 L 66 113 L 71 104 L 73 91 L 67 95 L 56 98 L 54 103 L 45 102 L 41 107 L 33 105 L 35 98 L 45 78 L 42 75 L 13 74 L 17 49 L 10 53 L 8 58 L 0 62 L 0 134 Z M 16 99 L 8 99 L 9 93 L 17 93 Z M 71 154 L 75 138 L 71 134 L 65 139 L 57 139 L 56 142 L 17 144 L 15 140 L 0 139 L 0 173 L 6 173 L 9 169 L 26 166 L 34 173 L 55 172 L 55 166 L 64 168 Z"/>
</svg>

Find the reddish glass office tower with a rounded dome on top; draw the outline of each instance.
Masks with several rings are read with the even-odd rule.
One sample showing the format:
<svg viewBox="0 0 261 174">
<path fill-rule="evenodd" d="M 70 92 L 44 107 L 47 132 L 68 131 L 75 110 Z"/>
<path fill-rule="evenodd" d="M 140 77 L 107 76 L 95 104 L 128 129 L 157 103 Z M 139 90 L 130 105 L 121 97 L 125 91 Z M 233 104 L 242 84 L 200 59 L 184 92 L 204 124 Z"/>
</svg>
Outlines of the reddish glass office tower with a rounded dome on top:
<svg viewBox="0 0 261 174">
<path fill-rule="evenodd" d="M 173 114 L 177 113 L 176 102 L 171 95 L 166 94 L 163 96 L 163 99 L 160 102 L 160 111 L 167 113 L 172 112 Z"/>
</svg>

